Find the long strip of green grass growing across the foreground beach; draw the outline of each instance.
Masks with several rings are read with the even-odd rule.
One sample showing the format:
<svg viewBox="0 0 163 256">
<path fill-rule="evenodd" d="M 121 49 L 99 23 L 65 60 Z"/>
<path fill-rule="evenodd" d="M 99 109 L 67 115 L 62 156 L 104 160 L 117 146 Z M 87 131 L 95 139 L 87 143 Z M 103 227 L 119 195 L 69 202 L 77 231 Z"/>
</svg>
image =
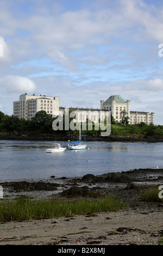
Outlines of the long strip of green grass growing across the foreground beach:
<svg viewBox="0 0 163 256">
<path fill-rule="evenodd" d="M 127 206 L 114 197 L 87 199 L 16 199 L 4 198 L 0 202 L 0 222 L 39 220 L 61 216 L 83 215 L 88 212 L 116 211 Z"/>
</svg>

